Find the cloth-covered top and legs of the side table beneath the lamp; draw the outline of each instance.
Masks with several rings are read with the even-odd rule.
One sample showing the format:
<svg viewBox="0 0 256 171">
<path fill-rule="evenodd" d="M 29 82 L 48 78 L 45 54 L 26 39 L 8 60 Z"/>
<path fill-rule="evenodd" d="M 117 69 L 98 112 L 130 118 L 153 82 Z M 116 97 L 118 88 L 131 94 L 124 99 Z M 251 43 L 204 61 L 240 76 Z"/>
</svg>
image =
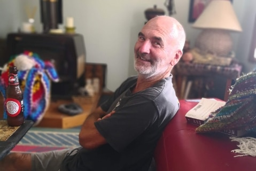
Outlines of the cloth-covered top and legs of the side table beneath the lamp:
<svg viewBox="0 0 256 171">
<path fill-rule="evenodd" d="M 184 91 L 188 76 L 194 77 L 213 77 L 222 76 L 226 79 L 226 87 L 223 100 L 228 100 L 229 88 L 233 79 L 237 79 L 241 74 L 242 66 L 239 64 L 231 64 L 229 66 L 218 66 L 210 64 L 183 63 L 180 61 L 173 68 L 172 74 L 175 78 L 176 92 L 179 99 L 184 98 Z M 187 90 L 189 87 L 187 87 Z"/>
</svg>

